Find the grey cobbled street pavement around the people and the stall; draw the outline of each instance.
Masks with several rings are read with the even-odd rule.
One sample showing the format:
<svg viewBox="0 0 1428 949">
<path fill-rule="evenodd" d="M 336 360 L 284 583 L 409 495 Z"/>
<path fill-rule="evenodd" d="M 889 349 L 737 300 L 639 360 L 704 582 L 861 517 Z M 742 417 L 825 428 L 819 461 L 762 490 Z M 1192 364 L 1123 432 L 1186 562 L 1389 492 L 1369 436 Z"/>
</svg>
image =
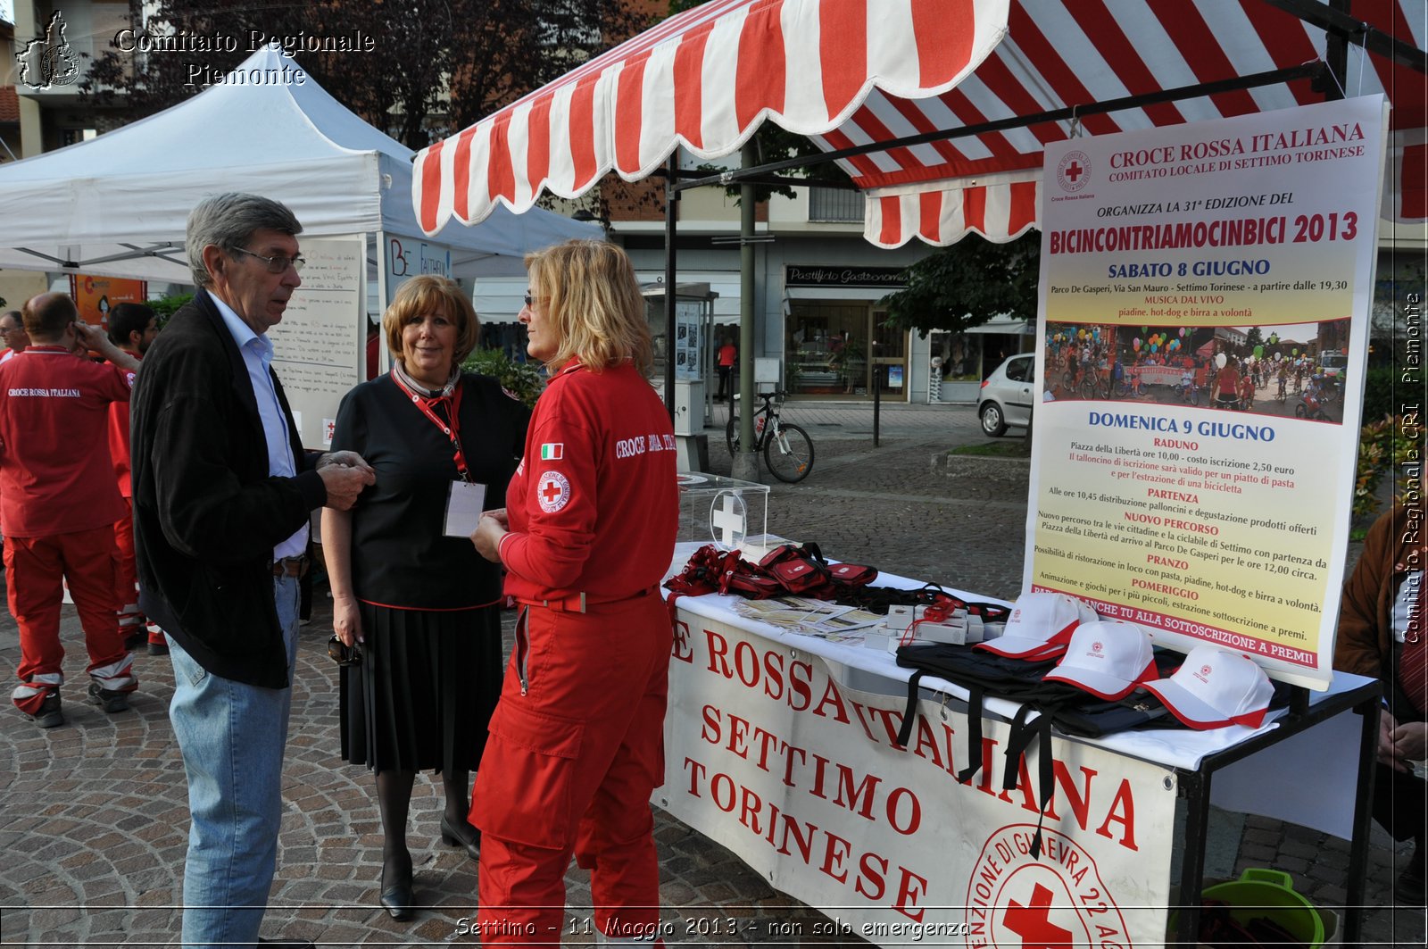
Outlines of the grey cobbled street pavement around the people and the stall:
<svg viewBox="0 0 1428 949">
<path fill-rule="evenodd" d="M 714 473 L 730 470 L 725 417 L 715 406 Z M 770 530 L 890 573 L 1004 599 L 1021 589 L 1027 463 L 948 457 L 952 446 L 988 442 L 970 406 L 883 406 L 878 447 L 868 403 L 790 403 L 784 417 L 810 432 L 817 460 L 805 482 L 773 486 Z M 263 935 L 326 946 L 476 945 L 464 929 L 476 910 L 476 865 L 438 839 L 434 775 L 417 779 L 407 838 L 424 908 L 404 923 L 377 908 L 373 779 L 338 757 L 330 609 L 321 590 L 314 600 L 301 629 L 278 870 Z M 83 702 L 84 649 L 73 607 L 64 610 L 63 637 L 69 723 L 41 730 L 13 709 L 0 716 L 0 945 L 176 945 L 188 815 L 167 719 L 173 669 L 167 657 L 139 656 L 133 709 L 106 715 Z M 4 616 L 0 660 L 14 667 L 19 659 L 14 623 Z M 1347 842 L 1262 818 L 1215 818 L 1207 873 L 1272 866 L 1289 872 L 1311 900 L 1342 905 Z M 668 945 L 865 945 L 855 936 L 797 935 L 825 918 L 660 812 L 655 838 Z M 1389 906 L 1394 860 L 1405 860 L 1408 849 L 1377 828 L 1372 842 L 1364 945 L 1421 946 L 1422 910 Z M 573 869 L 567 885 L 575 933 L 567 943 L 587 945 L 588 876 Z M 774 923 L 785 935 L 770 936 Z"/>
</svg>

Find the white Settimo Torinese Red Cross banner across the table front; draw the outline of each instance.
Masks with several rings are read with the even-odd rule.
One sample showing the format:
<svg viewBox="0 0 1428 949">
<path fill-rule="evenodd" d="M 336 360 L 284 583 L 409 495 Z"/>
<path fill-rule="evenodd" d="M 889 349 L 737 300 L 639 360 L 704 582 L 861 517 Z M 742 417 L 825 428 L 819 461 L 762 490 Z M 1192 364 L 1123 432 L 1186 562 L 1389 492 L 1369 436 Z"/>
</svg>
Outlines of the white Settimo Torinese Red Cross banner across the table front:
<svg viewBox="0 0 1428 949">
<path fill-rule="evenodd" d="M 654 802 L 730 848 L 774 888 L 874 943 L 1160 945 L 1170 900 L 1174 772 L 1054 739 L 1040 859 L 1037 755 L 1001 777 L 1010 726 L 982 725 L 970 782 L 967 716 L 840 685 L 824 662 L 680 613 L 665 783 Z M 817 933 L 760 933 L 815 936 Z"/>
</svg>

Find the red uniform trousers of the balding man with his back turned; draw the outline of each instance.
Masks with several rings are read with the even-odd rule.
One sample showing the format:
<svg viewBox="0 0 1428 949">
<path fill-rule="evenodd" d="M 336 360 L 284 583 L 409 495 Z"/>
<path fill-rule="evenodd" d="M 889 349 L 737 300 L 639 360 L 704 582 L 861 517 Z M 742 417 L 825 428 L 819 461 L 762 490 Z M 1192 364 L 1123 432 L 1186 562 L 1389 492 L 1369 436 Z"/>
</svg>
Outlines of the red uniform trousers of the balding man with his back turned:
<svg viewBox="0 0 1428 949">
<path fill-rule="evenodd" d="M 21 685 L 16 706 L 39 712 L 49 692 L 41 686 L 64 682 L 64 647 L 60 645 L 63 582 L 70 585 L 74 609 L 84 627 L 89 673 L 103 689 L 133 692 L 133 657 L 124 649 L 114 620 L 114 527 L 4 539 L 6 586 L 10 613 L 20 627 Z"/>
</svg>

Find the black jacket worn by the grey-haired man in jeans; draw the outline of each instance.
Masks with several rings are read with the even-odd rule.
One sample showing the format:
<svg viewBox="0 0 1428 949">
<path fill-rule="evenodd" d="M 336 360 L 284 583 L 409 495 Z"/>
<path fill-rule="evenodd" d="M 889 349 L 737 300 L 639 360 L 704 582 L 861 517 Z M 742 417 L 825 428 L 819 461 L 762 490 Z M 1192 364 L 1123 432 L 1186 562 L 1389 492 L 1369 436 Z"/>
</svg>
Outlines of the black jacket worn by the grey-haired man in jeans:
<svg viewBox="0 0 1428 949">
<path fill-rule="evenodd" d="M 270 477 L 253 384 L 200 290 L 144 356 L 130 406 L 139 605 L 208 672 L 288 683 L 273 600 L 273 547 L 327 502 L 283 386 L 296 477 Z"/>
</svg>

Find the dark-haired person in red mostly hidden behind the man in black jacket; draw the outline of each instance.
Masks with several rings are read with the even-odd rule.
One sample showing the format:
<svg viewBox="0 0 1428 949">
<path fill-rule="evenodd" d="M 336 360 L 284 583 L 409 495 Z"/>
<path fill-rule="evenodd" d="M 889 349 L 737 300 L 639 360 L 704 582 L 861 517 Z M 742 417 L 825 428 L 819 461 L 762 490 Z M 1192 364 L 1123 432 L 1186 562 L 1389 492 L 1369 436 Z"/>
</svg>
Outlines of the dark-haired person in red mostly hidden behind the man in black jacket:
<svg viewBox="0 0 1428 949">
<path fill-rule="evenodd" d="M 143 303 L 120 303 L 109 312 L 109 342 L 134 359 L 143 359 L 159 336 L 159 317 Z M 167 656 L 169 643 L 156 623 L 146 623 L 139 610 L 139 573 L 134 570 L 134 489 L 129 460 L 129 403 L 109 406 L 109 454 L 114 462 L 114 482 L 124 499 L 124 513 L 114 522 L 114 596 L 124 646 L 136 649 L 149 639 L 150 656 Z"/>
</svg>

